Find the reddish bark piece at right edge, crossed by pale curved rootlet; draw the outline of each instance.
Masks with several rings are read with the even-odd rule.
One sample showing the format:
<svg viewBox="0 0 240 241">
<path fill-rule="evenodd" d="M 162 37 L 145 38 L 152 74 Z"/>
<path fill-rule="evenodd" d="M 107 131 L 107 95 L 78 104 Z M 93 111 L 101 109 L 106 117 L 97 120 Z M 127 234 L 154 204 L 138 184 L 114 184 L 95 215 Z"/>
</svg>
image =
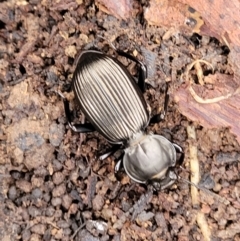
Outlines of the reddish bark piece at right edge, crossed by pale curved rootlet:
<svg viewBox="0 0 240 241">
<path fill-rule="evenodd" d="M 229 76 L 230 78 L 230 76 Z M 225 90 L 232 91 L 232 81 L 226 79 Z M 222 83 L 218 86 L 218 83 L 214 86 L 212 92 L 204 92 L 204 86 L 195 85 L 196 93 L 208 93 L 204 96 L 206 98 L 216 97 L 219 93 L 222 93 Z M 197 87 L 197 88 L 196 88 Z M 214 93 L 213 93 L 214 92 Z M 214 95 L 215 94 L 215 95 Z M 192 121 L 199 123 L 205 128 L 219 128 L 230 127 L 230 131 L 236 135 L 237 141 L 240 143 L 240 95 L 231 96 L 228 99 L 219 101 L 217 103 L 201 104 L 198 103 L 190 94 L 188 88 L 181 86 L 175 93 L 174 99 L 179 106 L 179 111 Z"/>
</svg>

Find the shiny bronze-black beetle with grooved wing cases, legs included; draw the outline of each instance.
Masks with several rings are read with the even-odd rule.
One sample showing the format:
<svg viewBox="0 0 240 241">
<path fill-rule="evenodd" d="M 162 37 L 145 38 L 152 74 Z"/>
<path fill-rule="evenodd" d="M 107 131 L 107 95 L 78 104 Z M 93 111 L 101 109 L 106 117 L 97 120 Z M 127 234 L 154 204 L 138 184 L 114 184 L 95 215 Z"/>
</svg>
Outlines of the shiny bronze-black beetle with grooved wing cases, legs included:
<svg viewBox="0 0 240 241">
<path fill-rule="evenodd" d="M 116 49 L 115 49 L 116 50 Z M 72 88 L 90 123 L 72 125 L 69 103 L 64 107 L 69 126 L 76 132 L 99 131 L 110 143 L 117 144 L 105 158 L 123 145 L 123 166 L 128 176 L 139 183 L 152 183 L 164 189 L 177 179 L 173 169 L 177 152 L 182 148 L 161 135 L 146 134 L 149 123 L 161 120 L 150 118 L 143 97 L 147 69 L 132 55 L 116 50 L 119 55 L 135 61 L 139 66 L 138 83 L 116 58 L 95 50 L 83 51 L 77 60 Z"/>
</svg>

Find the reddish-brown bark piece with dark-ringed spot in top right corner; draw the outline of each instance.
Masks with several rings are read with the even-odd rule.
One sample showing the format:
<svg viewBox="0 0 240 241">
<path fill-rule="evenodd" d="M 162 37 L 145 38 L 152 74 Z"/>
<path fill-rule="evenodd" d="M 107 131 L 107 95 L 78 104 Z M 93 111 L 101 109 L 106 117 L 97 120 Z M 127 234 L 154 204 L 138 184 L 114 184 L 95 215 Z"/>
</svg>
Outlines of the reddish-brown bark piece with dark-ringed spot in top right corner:
<svg viewBox="0 0 240 241">
<path fill-rule="evenodd" d="M 151 0 L 145 10 L 149 24 L 176 31 L 216 37 L 230 49 L 229 63 L 240 83 L 240 2 L 207 0 Z"/>
</svg>

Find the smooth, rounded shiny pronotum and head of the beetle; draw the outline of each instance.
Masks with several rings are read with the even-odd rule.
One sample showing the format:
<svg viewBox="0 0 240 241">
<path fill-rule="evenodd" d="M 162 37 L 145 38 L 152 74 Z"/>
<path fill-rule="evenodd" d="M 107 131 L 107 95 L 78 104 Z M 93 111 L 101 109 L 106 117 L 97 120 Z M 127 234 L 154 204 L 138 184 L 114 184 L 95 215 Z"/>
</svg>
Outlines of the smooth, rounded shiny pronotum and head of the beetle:
<svg viewBox="0 0 240 241">
<path fill-rule="evenodd" d="M 128 176 L 139 183 L 152 183 L 164 189 L 177 179 L 173 172 L 176 150 L 160 135 L 146 135 L 138 143 L 125 149 L 123 165 Z"/>
</svg>

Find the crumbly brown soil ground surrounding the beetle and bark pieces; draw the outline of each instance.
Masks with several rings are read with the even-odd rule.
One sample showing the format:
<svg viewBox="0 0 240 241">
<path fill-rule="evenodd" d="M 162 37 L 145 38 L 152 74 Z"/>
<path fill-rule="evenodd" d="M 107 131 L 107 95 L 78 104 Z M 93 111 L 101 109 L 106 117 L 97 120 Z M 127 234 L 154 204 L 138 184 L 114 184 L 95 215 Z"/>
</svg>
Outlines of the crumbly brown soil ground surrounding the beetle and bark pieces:
<svg viewBox="0 0 240 241">
<path fill-rule="evenodd" d="M 0 239 L 204 240 L 197 220 L 201 212 L 208 240 L 240 240 L 240 146 L 229 129 L 204 128 L 173 101 L 184 84 L 180 76 L 196 56 L 211 55 L 215 71 L 231 75 L 228 48 L 215 38 L 148 26 L 144 3 L 136 3 L 135 18 L 121 21 L 92 1 L 52 2 L 0 3 Z M 200 183 L 212 192 L 200 191 L 198 205 L 186 182 L 151 194 L 125 173 L 117 178 L 119 153 L 99 161 L 110 144 L 97 132 L 76 134 L 68 127 L 56 91 L 71 100 L 75 122 L 84 121 L 70 92 L 74 59 L 92 46 L 114 55 L 99 36 L 147 65 L 144 96 L 153 114 L 162 110 L 169 82 L 166 119 L 147 131 L 183 147 L 183 168 L 176 172 L 186 180 L 189 147 L 197 147 Z M 137 75 L 134 63 L 118 58 Z M 189 126 L 196 140 L 189 138 Z"/>
</svg>

